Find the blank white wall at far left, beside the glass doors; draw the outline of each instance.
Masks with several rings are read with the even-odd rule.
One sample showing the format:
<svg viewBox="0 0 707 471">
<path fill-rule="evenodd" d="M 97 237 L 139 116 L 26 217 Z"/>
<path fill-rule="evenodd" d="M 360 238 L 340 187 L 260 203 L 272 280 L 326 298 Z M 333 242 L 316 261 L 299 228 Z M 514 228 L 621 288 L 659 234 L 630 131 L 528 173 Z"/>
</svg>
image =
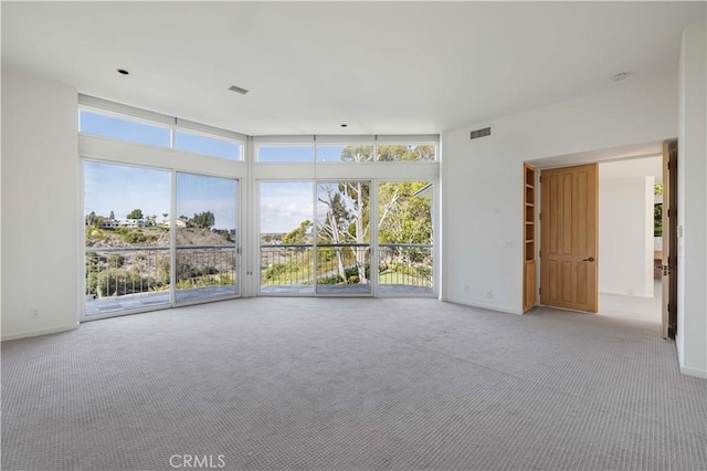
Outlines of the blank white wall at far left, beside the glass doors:
<svg viewBox="0 0 707 471">
<path fill-rule="evenodd" d="M 2 72 L 2 339 L 77 326 L 76 113 L 75 90 Z"/>
</svg>

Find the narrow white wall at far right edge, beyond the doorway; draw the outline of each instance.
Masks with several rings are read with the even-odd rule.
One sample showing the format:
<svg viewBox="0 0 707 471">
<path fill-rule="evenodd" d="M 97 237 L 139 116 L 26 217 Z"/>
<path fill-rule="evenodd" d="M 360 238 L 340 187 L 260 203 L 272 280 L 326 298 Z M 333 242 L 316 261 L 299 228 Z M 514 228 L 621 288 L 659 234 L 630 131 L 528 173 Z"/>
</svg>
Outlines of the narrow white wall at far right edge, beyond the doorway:
<svg viewBox="0 0 707 471">
<path fill-rule="evenodd" d="M 707 378 L 707 23 L 685 29 L 679 62 L 677 352 Z M 682 237 L 680 237 L 682 228 Z"/>
</svg>

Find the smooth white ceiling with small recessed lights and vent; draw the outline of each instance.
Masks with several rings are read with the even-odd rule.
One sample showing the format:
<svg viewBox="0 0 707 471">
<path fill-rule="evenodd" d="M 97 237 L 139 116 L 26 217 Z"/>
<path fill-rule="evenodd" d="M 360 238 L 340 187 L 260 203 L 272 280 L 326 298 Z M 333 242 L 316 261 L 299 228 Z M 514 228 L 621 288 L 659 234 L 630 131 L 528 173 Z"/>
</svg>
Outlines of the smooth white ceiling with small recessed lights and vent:
<svg viewBox="0 0 707 471">
<path fill-rule="evenodd" d="M 3 70 L 251 135 L 440 133 L 621 86 L 618 72 L 674 74 L 683 28 L 707 14 L 673 1 L 1 8 Z"/>
</svg>

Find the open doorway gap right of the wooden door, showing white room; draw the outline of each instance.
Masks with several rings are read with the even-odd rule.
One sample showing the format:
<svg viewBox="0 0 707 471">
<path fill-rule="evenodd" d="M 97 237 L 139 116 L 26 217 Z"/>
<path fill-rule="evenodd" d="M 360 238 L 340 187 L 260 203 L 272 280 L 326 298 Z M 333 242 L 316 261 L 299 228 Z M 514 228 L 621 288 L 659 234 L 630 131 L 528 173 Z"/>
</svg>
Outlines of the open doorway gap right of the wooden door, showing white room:
<svg viewBox="0 0 707 471">
<path fill-rule="evenodd" d="M 659 323 L 663 158 L 600 163 L 599 175 L 599 313 Z"/>
</svg>

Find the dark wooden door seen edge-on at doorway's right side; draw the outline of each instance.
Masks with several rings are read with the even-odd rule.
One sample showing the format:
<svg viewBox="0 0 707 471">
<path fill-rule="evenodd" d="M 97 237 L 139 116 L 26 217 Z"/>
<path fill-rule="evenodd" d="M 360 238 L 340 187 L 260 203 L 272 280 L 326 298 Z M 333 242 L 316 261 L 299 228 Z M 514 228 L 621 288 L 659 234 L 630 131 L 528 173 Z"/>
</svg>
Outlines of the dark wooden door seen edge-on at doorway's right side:
<svg viewBox="0 0 707 471">
<path fill-rule="evenodd" d="M 663 337 L 677 332 L 677 140 L 663 143 Z"/>
</svg>

